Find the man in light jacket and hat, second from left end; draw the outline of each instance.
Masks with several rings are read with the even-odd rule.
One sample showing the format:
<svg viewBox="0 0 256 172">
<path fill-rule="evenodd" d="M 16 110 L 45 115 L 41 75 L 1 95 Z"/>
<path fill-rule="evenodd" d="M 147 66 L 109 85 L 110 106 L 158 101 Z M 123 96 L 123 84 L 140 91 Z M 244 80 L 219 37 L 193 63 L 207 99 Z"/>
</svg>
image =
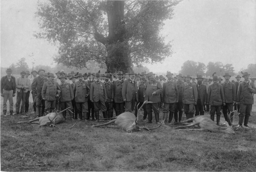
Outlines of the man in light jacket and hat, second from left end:
<svg viewBox="0 0 256 172">
<path fill-rule="evenodd" d="M 19 114 L 19 112 L 21 114 L 24 113 L 26 94 L 30 87 L 30 80 L 28 78 L 25 78 L 26 72 L 23 70 L 20 72 L 20 75 L 21 76 L 16 79 L 16 94 L 17 94 L 16 98 L 17 99 L 16 99 L 16 104 L 15 104 L 16 110 L 15 110 L 14 115 Z M 20 105 L 20 103 L 21 103 L 21 105 Z M 19 107 L 20 107 L 20 109 L 19 109 Z"/>
</svg>

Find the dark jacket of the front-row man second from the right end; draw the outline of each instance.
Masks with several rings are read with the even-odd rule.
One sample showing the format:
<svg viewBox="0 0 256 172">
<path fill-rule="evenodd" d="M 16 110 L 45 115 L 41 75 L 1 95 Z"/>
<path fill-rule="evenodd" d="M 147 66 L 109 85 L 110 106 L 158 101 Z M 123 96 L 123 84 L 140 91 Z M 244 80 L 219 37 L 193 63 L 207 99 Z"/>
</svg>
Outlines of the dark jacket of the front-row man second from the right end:
<svg viewBox="0 0 256 172">
<path fill-rule="evenodd" d="M 233 101 L 237 100 L 236 96 L 236 86 L 232 82 L 224 82 L 222 83 L 224 96 L 225 96 L 225 103 L 233 103 Z"/>
</svg>

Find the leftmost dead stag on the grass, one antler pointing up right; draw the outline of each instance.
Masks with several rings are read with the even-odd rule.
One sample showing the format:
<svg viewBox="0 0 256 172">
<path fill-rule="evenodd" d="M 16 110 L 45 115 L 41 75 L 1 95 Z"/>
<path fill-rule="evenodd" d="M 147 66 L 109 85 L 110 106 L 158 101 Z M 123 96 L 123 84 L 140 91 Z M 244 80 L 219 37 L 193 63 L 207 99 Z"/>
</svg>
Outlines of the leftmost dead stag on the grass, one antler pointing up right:
<svg viewBox="0 0 256 172">
<path fill-rule="evenodd" d="M 25 122 L 35 122 L 35 121 L 38 121 L 37 123 L 39 123 L 40 127 L 41 126 L 46 126 L 46 125 L 49 125 L 49 126 L 56 126 L 55 124 L 59 124 L 59 123 L 62 123 L 64 122 L 64 118 L 62 116 L 62 112 L 69 109 L 70 107 L 60 111 L 59 113 L 56 113 L 56 112 L 52 112 L 52 113 L 49 113 L 47 114 L 46 116 L 43 116 L 43 117 L 38 117 L 38 118 L 35 118 L 35 119 L 32 119 L 30 121 L 20 121 L 18 123 L 25 123 Z"/>
</svg>

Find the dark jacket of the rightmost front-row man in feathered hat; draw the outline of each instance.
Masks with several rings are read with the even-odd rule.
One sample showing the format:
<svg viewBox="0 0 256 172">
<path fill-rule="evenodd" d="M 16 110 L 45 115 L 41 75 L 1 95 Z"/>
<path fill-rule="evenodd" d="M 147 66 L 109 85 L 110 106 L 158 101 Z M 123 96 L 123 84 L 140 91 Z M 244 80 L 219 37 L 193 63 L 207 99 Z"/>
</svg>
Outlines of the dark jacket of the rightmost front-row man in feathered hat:
<svg viewBox="0 0 256 172">
<path fill-rule="evenodd" d="M 254 104 L 253 94 L 256 94 L 256 88 L 253 82 L 250 81 L 250 86 L 244 81 L 239 83 L 237 92 L 237 102 L 240 104 Z"/>
</svg>

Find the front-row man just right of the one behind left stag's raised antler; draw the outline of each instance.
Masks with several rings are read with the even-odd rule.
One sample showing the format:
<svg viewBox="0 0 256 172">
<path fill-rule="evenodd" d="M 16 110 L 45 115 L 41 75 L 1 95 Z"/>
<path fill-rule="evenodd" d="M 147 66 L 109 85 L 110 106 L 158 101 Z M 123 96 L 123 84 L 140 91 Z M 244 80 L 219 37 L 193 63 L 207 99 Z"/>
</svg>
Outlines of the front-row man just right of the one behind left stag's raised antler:
<svg viewBox="0 0 256 172">
<path fill-rule="evenodd" d="M 90 87 L 89 84 L 84 81 L 84 77 L 82 73 L 77 75 L 79 81 L 75 82 L 74 85 L 74 92 L 75 92 L 75 102 L 77 113 L 79 115 L 79 120 L 83 120 L 83 113 L 84 119 L 87 118 L 88 114 L 88 98 L 90 94 Z"/>
</svg>

